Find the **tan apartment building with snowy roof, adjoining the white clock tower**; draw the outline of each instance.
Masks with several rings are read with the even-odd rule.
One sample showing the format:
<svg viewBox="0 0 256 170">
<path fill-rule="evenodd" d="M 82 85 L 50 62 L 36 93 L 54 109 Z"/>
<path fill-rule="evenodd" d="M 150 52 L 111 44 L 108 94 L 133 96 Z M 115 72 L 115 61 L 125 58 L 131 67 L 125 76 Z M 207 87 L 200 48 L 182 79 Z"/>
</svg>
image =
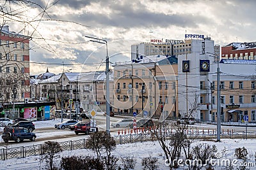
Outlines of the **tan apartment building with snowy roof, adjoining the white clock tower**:
<svg viewBox="0 0 256 170">
<path fill-rule="evenodd" d="M 141 117 L 177 117 L 177 59 L 163 55 L 117 62 L 114 67 L 114 106 L 118 113 Z"/>
</svg>

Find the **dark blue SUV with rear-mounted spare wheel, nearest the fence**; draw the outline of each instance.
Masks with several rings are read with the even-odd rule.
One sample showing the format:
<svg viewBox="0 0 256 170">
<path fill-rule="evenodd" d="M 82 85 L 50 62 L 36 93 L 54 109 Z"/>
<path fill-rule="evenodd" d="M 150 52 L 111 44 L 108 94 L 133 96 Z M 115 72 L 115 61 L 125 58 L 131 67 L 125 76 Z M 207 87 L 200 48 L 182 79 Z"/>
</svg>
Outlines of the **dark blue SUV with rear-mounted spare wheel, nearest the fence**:
<svg viewBox="0 0 256 170">
<path fill-rule="evenodd" d="M 36 134 L 29 132 L 28 129 L 24 127 L 5 127 L 2 135 L 2 139 L 5 143 L 8 141 L 15 141 L 19 143 L 24 139 L 29 139 L 30 141 L 35 141 Z"/>
</svg>

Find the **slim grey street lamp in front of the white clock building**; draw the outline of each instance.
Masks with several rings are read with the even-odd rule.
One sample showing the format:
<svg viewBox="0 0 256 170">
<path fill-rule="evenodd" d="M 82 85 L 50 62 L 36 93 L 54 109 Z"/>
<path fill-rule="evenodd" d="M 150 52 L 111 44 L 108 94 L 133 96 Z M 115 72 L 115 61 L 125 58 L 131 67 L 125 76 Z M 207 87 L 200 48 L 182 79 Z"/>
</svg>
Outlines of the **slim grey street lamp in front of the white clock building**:
<svg viewBox="0 0 256 170">
<path fill-rule="evenodd" d="M 207 52 L 209 53 L 209 52 Z M 210 53 L 217 55 L 216 53 Z M 220 59 L 217 55 L 217 141 L 220 141 L 221 120 L 220 120 Z"/>
</svg>

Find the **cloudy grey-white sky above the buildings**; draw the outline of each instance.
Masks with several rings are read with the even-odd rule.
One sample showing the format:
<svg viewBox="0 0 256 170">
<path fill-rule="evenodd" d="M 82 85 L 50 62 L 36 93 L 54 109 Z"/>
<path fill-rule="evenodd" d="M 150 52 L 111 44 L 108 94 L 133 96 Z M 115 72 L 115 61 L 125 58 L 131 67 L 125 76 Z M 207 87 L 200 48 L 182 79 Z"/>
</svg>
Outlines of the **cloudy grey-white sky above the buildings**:
<svg viewBox="0 0 256 170">
<path fill-rule="evenodd" d="M 22 4 L 26 25 L 9 22 L 10 31 L 31 41 L 31 74 L 104 69 L 106 46 L 84 36 L 108 41 L 110 62 L 130 60 L 131 45 L 152 39 L 184 39 L 204 34 L 215 44 L 256 41 L 256 1 L 201 0 L 36 0 Z M 13 4 L 14 5 L 14 4 Z M 17 7 L 16 7 L 17 8 Z M 45 12 L 44 12 L 45 11 Z M 25 12 L 24 12 L 25 13 Z M 39 21 L 40 20 L 40 21 Z"/>
</svg>

